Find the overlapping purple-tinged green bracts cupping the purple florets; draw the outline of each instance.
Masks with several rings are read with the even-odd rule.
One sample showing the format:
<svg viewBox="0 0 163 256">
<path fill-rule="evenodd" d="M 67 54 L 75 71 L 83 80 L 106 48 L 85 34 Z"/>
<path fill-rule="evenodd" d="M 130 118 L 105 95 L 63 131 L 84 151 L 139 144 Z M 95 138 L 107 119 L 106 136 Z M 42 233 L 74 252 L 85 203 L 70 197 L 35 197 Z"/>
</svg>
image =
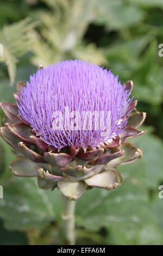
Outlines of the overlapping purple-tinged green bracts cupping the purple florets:
<svg viewBox="0 0 163 256">
<path fill-rule="evenodd" d="M 26 84 L 17 84 L 16 100 L 22 86 Z M 133 83 L 129 81 L 124 86 L 131 90 Z M 33 127 L 18 114 L 16 104 L 2 102 L 6 118 L 0 133 L 17 155 L 10 164 L 12 173 L 37 177 L 40 188 L 54 190 L 58 187 L 69 200 L 77 200 L 91 187 L 113 190 L 122 183 L 118 165 L 142 157 L 142 150 L 127 142 L 127 139 L 145 133 L 137 128 L 145 120 L 146 113 L 137 112 L 136 105 L 137 101 L 130 103 L 126 129 L 111 141 L 100 143 L 96 148 L 66 147 L 59 151 L 36 136 Z"/>
</svg>

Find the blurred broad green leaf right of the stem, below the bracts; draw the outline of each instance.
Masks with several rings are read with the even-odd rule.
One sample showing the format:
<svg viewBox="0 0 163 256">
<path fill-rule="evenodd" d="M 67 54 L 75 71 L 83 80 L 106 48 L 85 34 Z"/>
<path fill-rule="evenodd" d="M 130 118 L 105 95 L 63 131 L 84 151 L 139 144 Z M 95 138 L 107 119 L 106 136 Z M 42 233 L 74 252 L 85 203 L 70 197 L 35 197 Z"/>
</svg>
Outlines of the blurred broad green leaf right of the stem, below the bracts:
<svg viewBox="0 0 163 256">
<path fill-rule="evenodd" d="M 115 191 L 93 188 L 77 201 L 77 223 L 90 230 L 142 227 L 155 221 L 147 199 L 146 190 L 134 182 L 124 181 Z"/>
</svg>

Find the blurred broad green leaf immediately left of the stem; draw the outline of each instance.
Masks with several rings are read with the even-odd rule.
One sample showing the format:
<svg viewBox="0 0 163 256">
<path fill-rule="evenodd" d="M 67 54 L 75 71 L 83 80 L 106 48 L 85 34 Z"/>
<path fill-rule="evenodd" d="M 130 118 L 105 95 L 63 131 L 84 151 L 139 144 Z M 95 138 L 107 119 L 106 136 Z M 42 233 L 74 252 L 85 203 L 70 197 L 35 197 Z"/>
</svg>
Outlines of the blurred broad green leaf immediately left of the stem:
<svg viewBox="0 0 163 256">
<path fill-rule="evenodd" d="M 41 229 L 60 215 L 61 194 L 58 190 L 40 190 L 35 178 L 15 179 L 12 176 L 10 181 L 0 182 L 4 191 L 4 199 L 0 200 L 0 217 L 7 229 Z"/>
</svg>

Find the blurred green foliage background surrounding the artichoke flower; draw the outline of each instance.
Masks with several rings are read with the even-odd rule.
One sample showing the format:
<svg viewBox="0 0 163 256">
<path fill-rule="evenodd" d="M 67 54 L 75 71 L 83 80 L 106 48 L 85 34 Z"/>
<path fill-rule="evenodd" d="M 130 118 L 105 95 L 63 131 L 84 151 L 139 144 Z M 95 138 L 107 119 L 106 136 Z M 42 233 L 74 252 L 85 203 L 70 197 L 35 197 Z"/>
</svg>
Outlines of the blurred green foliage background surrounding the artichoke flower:
<svg viewBox="0 0 163 256">
<path fill-rule="evenodd" d="M 1 0 L 0 101 L 14 101 L 18 81 L 42 64 L 84 59 L 133 80 L 147 134 L 133 139 L 142 160 L 120 168 L 115 191 L 93 188 L 77 202 L 77 243 L 162 245 L 163 43 L 162 0 Z M 0 112 L 2 123 L 3 113 Z M 35 178 L 9 171 L 11 148 L 0 140 L 1 245 L 62 244 L 59 191 L 42 191 Z"/>
</svg>

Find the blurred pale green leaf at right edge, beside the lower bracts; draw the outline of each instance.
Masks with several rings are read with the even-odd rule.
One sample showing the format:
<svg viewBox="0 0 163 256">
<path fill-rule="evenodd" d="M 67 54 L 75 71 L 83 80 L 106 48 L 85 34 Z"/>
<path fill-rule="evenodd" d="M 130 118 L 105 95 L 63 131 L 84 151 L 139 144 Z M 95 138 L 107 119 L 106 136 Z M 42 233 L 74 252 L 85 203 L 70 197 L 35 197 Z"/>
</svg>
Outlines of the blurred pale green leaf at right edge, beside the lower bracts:
<svg viewBox="0 0 163 256">
<path fill-rule="evenodd" d="M 142 148 L 143 157 L 137 163 L 128 166 L 120 166 L 120 170 L 125 173 L 126 178 L 136 178 L 137 182 L 146 184 L 151 188 L 156 188 L 159 181 L 163 180 L 163 143 L 154 135 L 143 135 L 142 138 L 131 139 L 136 146 Z M 123 174 L 123 173 L 122 173 Z"/>
</svg>

